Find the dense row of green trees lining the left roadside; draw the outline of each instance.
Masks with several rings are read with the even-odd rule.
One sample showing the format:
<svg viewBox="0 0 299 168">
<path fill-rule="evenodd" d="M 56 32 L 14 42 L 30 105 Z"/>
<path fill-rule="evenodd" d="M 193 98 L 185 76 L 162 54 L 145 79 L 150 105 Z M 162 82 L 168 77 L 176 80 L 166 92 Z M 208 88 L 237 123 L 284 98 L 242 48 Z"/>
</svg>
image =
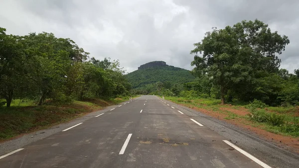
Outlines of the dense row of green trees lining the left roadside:
<svg viewBox="0 0 299 168">
<path fill-rule="evenodd" d="M 0 28 L 0 100 L 70 102 L 114 98 L 129 93 L 119 61 L 89 59 L 89 53 L 69 38 L 52 33 L 6 34 Z"/>
</svg>

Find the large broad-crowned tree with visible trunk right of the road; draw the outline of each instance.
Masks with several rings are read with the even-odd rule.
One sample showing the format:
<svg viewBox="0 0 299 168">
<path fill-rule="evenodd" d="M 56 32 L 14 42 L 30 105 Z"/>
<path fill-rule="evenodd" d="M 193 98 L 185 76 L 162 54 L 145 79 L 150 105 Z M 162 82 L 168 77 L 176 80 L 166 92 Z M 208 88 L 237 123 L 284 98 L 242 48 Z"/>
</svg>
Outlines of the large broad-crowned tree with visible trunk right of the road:
<svg viewBox="0 0 299 168">
<path fill-rule="evenodd" d="M 287 36 L 271 32 L 262 21 L 242 21 L 224 29 L 207 32 L 201 42 L 195 43 L 191 65 L 199 77 L 207 75 L 220 88 L 221 102 L 225 103 L 228 90 L 253 82 L 261 71 L 278 72 L 281 54 L 289 43 Z M 197 55 L 198 53 L 202 55 Z"/>
</svg>

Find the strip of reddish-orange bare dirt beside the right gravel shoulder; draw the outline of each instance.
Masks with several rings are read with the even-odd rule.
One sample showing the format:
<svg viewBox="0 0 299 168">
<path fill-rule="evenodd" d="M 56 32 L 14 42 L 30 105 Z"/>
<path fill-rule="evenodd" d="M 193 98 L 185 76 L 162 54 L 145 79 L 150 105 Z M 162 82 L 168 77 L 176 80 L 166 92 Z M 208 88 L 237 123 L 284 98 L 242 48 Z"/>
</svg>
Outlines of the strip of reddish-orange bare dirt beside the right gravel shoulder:
<svg viewBox="0 0 299 168">
<path fill-rule="evenodd" d="M 185 105 L 183 105 L 183 106 L 185 106 Z M 241 128 L 247 129 L 248 131 L 254 132 L 261 138 L 266 139 L 270 142 L 274 142 L 275 144 L 277 144 L 279 147 L 281 147 L 283 149 L 287 149 L 287 150 L 299 153 L 299 138 L 293 138 L 293 137 L 283 136 L 280 134 L 274 134 L 274 133 L 268 132 L 266 130 L 263 130 L 260 127 L 254 127 L 253 126 L 255 124 L 254 122 L 248 121 L 245 118 L 241 117 L 241 116 L 246 116 L 247 114 L 249 114 L 248 110 L 245 108 L 234 109 L 234 108 L 229 108 L 229 107 L 223 107 L 223 108 L 219 108 L 221 110 L 221 112 L 198 108 L 195 106 L 191 106 L 190 108 L 192 108 L 198 112 L 204 113 L 206 115 L 215 117 L 219 120 L 223 120 L 227 123 L 233 124 L 237 127 L 241 127 Z M 229 114 L 225 113 L 225 111 L 234 113 L 234 114 L 240 116 L 241 118 L 238 117 L 236 119 L 227 120 L 225 118 L 227 118 L 229 116 Z"/>
</svg>

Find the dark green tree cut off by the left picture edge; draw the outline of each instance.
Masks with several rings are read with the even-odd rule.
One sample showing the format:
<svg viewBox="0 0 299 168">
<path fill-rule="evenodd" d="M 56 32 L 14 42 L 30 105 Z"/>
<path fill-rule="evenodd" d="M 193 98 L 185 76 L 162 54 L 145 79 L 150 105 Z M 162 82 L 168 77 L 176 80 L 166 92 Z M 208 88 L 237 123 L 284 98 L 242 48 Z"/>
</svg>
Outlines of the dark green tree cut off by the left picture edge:
<svg viewBox="0 0 299 168">
<path fill-rule="evenodd" d="M 10 107 L 14 95 L 21 95 L 21 87 L 27 82 L 29 56 L 23 49 L 23 37 L 7 35 L 0 27 L 0 96 Z"/>
</svg>

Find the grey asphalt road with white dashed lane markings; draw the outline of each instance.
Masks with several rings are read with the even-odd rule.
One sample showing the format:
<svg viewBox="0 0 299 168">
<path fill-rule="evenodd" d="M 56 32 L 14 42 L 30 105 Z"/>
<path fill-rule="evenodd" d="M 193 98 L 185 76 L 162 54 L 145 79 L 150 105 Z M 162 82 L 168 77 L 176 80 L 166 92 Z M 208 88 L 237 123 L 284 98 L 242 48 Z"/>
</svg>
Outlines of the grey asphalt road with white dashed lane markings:
<svg viewBox="0 0 299 168">
<path fill-rule="evenodd" d="M 270 159 L 261 159 L 260 153 L 239 148 L 236 142 L 208 128 L 205 120 L 155 96 L 142 96 L 93 113 L 88 120 L 3 155 L 0 168 L 298 166 L 296 156 L 288 158 L 283 153 L 277 156 L 288 158 L 281 159 L 282 166 L 271 162 L 270 154 Z"/>
</svg>

